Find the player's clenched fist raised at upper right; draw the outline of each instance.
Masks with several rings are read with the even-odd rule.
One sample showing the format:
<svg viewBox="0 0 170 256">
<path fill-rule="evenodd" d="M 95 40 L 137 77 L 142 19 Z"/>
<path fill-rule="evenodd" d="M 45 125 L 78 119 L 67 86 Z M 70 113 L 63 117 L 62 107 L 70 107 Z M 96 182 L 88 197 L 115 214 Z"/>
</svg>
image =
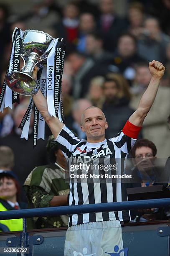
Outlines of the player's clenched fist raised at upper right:
<svg viewBox="0 0 170 256">
<path fill-rule="evenodd" d="M 149 62 L 149 70 L 152 77 L 157 77 L 158 79 L 161 79 L 165 72 L 165 67 L 159 61 L 152 61 Z"/>
</svg>

